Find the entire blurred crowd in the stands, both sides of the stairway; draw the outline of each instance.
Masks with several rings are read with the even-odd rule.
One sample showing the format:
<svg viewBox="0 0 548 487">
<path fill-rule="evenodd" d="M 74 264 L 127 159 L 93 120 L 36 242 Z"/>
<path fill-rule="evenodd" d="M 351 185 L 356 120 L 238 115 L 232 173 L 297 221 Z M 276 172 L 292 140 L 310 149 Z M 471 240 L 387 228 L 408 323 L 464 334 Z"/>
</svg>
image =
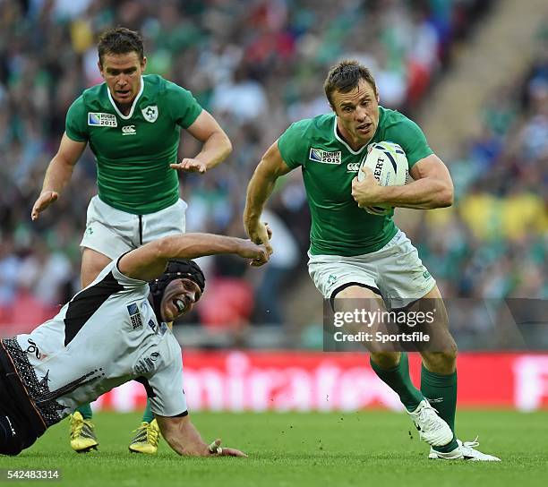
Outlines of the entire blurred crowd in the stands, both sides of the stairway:
<svg viewBox="0 0 548 487">
<path fill-rule="evenodd" d="M 330 109 L 322 82 L 331 64 L 360 59 L 382 104 L 413 115 L 490 8 L 480 0 L 0 2 L 0 333 L 47 319 L 79 288 L 79 243 L 96 192 L 90 151 L 39 221 L 30 222 L 30 208 L 67 108 L 101 82 L 101 31 L 140 30 L 147 72 L 192 90 L 225 128 L 235 148 L 227 162 L 207 175 L 181 175 L 187 231 L 243 236 L 256 163 L 288 124 Z M 525 79 L 493 93 L 477 138 L 447 161 L 456 208 L 426 212 L 405 228 L 445 295 L 548 295 L 546 32 L 538 43 Z M 198 150 L 185 136 L 180 155 Z M 305 275 L 310 227 L 298 171 L 279 184 L 268 221 L 277 239 L 270 264 L 250 272 L 229 257 L 203 260 L 208 292 L 188 320 L 234 329 L 287 324 L 283 297 Z"/>
</svg>

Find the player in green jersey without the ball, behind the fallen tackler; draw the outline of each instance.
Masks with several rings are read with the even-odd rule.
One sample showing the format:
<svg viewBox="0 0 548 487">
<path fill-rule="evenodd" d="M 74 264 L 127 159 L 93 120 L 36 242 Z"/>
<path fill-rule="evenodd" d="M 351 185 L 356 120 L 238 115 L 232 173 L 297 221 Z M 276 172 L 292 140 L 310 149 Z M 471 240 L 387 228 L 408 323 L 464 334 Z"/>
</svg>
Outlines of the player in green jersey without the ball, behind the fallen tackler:
<svg viewBox="0 0 548 487">
<path fill-rule="evenodd" d="M 66 115 L 65 132 L 47 167 L 31 218 L 57 200 L 90 144 L 97 161 L 98 194 L 90 201 L 81 241 L 81 286 L 108 262 L 166 235 L 184 233 L 186 203 L 176 171 L 205 173 L 232 150 L 227 134 L 188 90 L 158 75 L 143 75 L 147 59 L 133 30 L 107 30 L 98 41 L 98 69 L 105 82 L 83 91 Z M 194 158 L 177 163 L 181 129 L 201 141 Z M 98 445 L 90 406 L 71 418 L 71 446 Z M 147 406 L 130 450 L 155 453 L 158 425 Z"/>
</svg>

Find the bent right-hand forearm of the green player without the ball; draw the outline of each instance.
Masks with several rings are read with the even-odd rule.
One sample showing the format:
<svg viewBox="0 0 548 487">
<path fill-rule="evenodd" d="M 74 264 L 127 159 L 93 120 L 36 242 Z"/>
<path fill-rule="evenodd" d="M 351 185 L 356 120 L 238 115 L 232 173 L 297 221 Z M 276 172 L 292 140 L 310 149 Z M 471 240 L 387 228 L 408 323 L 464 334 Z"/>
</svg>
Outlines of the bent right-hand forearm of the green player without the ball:
<svg viewBox="0 0 548 487">
<path fill-rule="evenodd" d="M 186 130 L 203 146 L 194 158 L 184 158 L 178 164 L 170 164 L 172 169 L 203 174 L 218 166 L 232 152 L 232 143 L 227 134 L 206 110 L 201 110 L 201 114 Z"/>
</svg>

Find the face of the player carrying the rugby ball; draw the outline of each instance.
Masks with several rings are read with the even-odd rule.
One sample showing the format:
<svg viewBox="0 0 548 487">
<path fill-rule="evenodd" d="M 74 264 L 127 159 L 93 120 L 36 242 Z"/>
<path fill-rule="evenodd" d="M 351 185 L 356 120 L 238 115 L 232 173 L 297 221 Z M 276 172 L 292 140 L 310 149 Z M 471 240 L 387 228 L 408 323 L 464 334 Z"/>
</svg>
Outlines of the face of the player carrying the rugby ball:
<svg viewBox="0 0 548 487">
<path fill-rule="evenodd" d="M 338 130 L 350 142 L 353 149 L 363 147 L 371 141 L 379 124 L 379 95 L 365 80 L 354 90 L 331 95 L 337 114 Z"/>
</svg>

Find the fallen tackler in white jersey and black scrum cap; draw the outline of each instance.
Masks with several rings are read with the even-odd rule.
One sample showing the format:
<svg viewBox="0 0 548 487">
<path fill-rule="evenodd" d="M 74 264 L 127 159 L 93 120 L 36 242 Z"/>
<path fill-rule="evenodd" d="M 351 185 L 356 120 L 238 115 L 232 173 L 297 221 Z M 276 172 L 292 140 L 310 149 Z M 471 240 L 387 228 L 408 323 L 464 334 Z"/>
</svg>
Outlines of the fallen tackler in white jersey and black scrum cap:
<svg viewBox="0 0 548 487">
<path fill-rule="evenodd" d="M 107 264 L 30 334 L 0 341 L 0 454 L 18 455 L 75 406 L 140 381 L 169 446 L 193 457 L 245 457 L 209 446 L 190 421 L 181 347 L 167 322 L 193 308 L 205 278 L 193 259 L 234 253 L 261 265 L 263 246 L 222 235 L 167 236 Z"/>
</svg>

